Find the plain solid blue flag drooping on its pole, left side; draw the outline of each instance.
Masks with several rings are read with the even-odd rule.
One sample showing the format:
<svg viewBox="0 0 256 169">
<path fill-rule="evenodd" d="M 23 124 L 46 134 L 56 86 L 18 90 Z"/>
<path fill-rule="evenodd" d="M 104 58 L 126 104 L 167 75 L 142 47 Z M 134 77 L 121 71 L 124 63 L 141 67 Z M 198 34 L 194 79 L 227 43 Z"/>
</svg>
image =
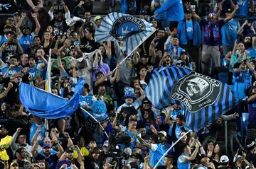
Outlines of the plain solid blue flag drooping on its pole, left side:
<svg viewBox="0 0 256 169">
<path fill-rule="evenodd" d="M 75 86 L 73 97 L 68 100 L 58 95 L 53 95 L 40 88 L 35 88 L 26 83 L 19 86 L 21 103 L 32 115 L 46 119 L 60 119 L 73 114 L 78 109 L 79 98 L 82 94 L 85 80 L 79 80 Z"/>
</svg>

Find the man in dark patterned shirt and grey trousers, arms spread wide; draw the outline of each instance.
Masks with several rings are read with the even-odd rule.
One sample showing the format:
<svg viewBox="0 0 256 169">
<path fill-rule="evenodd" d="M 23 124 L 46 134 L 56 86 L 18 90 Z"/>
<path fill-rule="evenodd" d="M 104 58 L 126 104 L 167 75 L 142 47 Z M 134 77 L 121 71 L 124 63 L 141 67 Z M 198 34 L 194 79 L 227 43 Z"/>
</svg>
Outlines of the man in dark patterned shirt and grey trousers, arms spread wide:
<svg viewBox="0 0 256 169">
<path fill-rule="evenodd" d="M 186 8 L 191 11 L 193 18 L 197 21 L 201 22 L 203 25 L 203 49 L 202 49 L 202 74 L 210 74 L 210 58 L 213 59 L 213 63 L 215 67 L 220 66 L 220 51 L 219 51 L 219 43 L 220 43 L 220 34 L 221 27 L 230 21 L 235 12 L 238 11 L 238 5 L 235 6 L 235 9 L 228 17 L 223 20 L 218 21 L 218 16 L 220 11 L 219 8 L 218 13 L 215 11 L 210 11 L 208 14 L 208 20 L 201 19 L 195 11 L 191 8 L 191 5 L 186 2 Z"/>
</svg>

